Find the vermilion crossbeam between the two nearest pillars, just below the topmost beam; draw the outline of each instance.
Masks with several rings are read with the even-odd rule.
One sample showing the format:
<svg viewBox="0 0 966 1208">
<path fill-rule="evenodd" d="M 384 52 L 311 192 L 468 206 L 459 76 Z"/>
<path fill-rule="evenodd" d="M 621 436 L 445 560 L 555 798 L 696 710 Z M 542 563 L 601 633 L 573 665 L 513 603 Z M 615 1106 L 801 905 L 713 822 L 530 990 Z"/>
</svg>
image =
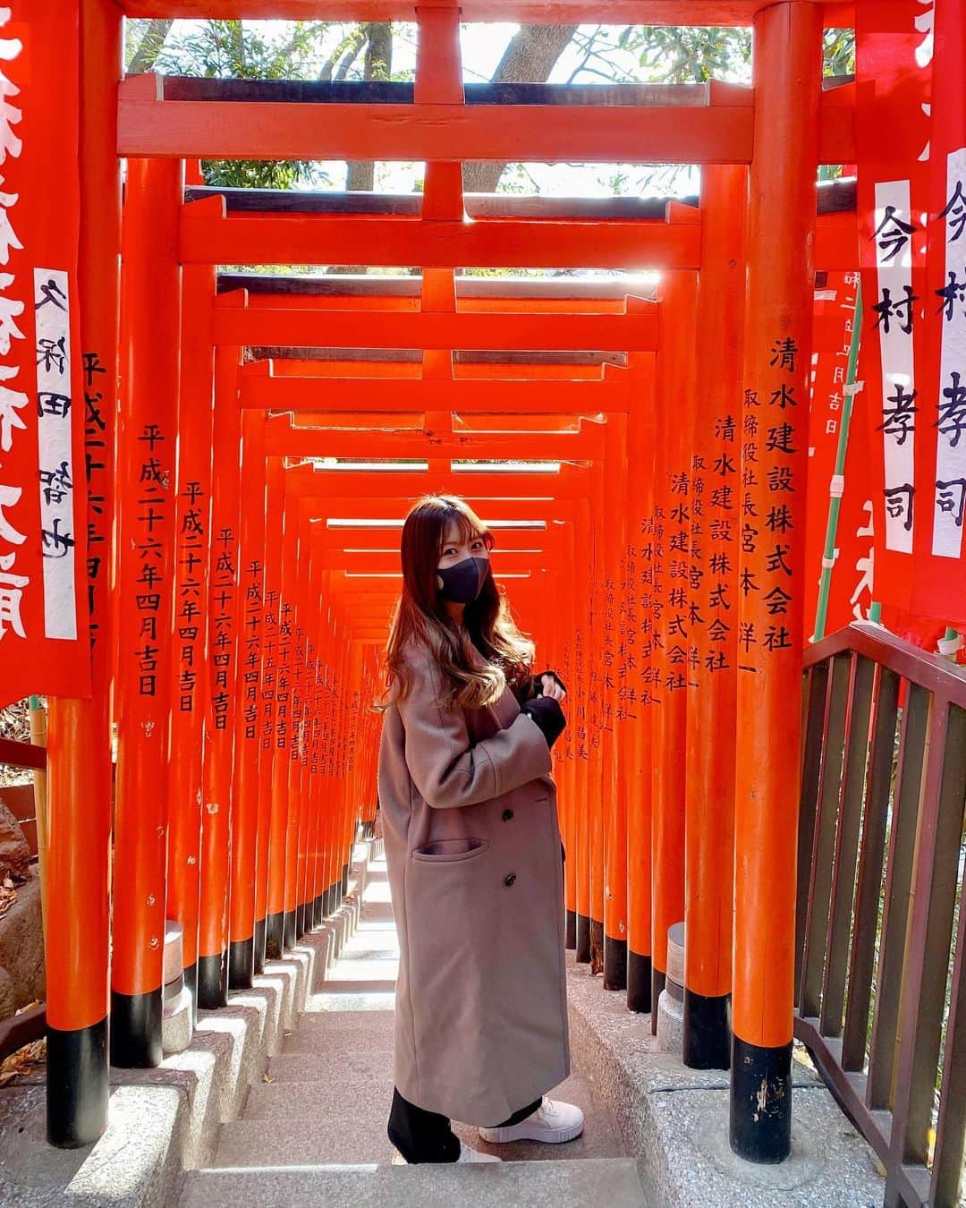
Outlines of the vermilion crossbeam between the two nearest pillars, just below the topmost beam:
<svg viewBox="0 0 966 1208">
<path fill-rule="evenodd" d="M 156 100 L 138 76 L 121 86 L 117 153 L 198 159 L 453 161 L 555 163 L 747 163 L 753 111 L 735 104 L 320 105 Z M 834 163 L 852 162 L 845 145 Z M 830 151 L 832 149 L 830 147 Z"/>
</svg>

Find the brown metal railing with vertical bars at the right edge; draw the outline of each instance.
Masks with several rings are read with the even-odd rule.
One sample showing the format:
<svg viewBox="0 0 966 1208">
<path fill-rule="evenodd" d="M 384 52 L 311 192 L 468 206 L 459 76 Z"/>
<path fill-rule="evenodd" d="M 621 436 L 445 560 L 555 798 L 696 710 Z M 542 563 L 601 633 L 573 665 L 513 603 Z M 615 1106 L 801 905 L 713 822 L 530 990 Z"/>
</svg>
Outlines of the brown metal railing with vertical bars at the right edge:
<svg viewBox="0 0 966 1208">
<path fill-rule="evenodd" d="M 958 1203 L 966 1128 L 966 675 L 877 626 L 805 658 L 796 1036 L 886 1208 Z"/>
</svg>

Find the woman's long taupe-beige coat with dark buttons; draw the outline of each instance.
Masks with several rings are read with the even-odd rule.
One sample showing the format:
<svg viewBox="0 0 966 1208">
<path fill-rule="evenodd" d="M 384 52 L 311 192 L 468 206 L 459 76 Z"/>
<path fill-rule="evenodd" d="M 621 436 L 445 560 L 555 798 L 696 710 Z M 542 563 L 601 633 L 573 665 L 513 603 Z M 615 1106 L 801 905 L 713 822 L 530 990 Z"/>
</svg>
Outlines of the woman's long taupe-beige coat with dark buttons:
<svg viewBox="0 0 966 1208">
<path fill-rule="evenodd" d="M 429 652 L 408 662 L 412 692 L 384 714 L 379 749 L 395 1081 L 417 1107 L 495 1126 L 570 1073 L 551 755 L 510 689 L 448 708 Z"/>
</svg>

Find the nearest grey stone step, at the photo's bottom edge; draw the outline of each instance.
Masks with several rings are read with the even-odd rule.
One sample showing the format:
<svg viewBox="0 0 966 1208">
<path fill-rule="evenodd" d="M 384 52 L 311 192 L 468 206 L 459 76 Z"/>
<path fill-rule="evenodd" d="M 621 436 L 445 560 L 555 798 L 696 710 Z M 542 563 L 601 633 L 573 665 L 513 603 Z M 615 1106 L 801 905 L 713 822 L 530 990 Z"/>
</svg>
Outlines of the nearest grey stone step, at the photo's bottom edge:
<svg viewBox="0 0 966 1208">
<path fill-rule="evenodd" d="M 180 1208 L 647 1208 L 630 1158 L 192 1171 Z"/>
</svg>

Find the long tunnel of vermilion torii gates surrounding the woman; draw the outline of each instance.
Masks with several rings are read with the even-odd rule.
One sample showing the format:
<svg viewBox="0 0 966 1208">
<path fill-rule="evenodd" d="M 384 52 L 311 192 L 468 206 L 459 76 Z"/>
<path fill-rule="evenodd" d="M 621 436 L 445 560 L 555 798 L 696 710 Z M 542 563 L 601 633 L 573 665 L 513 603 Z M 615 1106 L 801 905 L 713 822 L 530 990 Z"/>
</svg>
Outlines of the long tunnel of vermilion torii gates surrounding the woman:
<svg viewBox="0 0 966 1208">
<path fill-rule="evenodd" d="M 28 65 L 46 81 L 21 165 L 78 132 L 76 157 L 46 159 L 18 210 L 50 222 L 63 208 L 69 231 L 76 205 L 76 304 L 64 319 L 51 277 L 36 323 L 51 348 L 69 338 L 86 396 L 89 691 L 50 693 L 51 1142 L 104 1129 L 109 1061 L 162 1059 L 165 919 L 184 929 L 197 1005 L 216 1009 L 338 905 L 377 808 L 367 705 L 398 530 L 438 490 L 491 525 L 496 580 L 569 686 L 554 773 L 569 946 L 650 1011 L 668 929 L 686 922 L 685 1059 L 731 1068 L 733 1148 L 781 1160 L 814 632 L 798 401 L 813 355 L 842 355 L 815 273 L 859 268 L 854 207 L 834 187 L 816 205 L 817 165 L 855 161 L 854 87 L 821 79 L 822 29 L 852 11 L 81 0 L 71 22 L 74 8 L 30 0 L 4 30 L 33 29 Z M 372 103 L 320 93 L 324 106 L 302 83 L 121 80 L 123 12 L 414 19 L 412 103 L 377 85 L 359 86 Z M 753 88 L 639 87 L 633 103 L 609 89 L 607 104 L 568 89 L 539 121 L 520 95 L 464 104 L 461 18 L 753 25 Z M 425 161 L 425 192 L 380 211 L 204 188 L 202 158 Z M 469 158 L 700 164 L 700 199 L 627 216 L 464 198 Z M 421 272 L 217 273 L 333 263 Z M 458 266 L 659 280 L 638 297 L 633 278 L 469 280 Z"/>
</svg>

